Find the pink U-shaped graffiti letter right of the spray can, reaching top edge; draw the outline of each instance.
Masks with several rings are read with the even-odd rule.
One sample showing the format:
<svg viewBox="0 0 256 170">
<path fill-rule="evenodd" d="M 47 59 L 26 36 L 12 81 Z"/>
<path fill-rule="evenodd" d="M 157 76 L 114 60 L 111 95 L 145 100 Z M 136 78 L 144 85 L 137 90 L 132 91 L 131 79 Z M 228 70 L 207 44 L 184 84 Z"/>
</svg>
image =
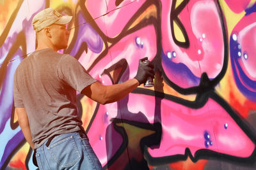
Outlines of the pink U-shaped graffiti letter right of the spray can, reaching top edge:
<svg viewBox="0 0 256 170">
<path fill-rule="evenodd" d="M 174 56 L 170 56 L 170 62 L 185 64 L 195 76 L 200 77 L 206 72 L 209 78 L 215 78 L 223 67 L 224 57 L 223 28 L 216 1 L 189 1 L 180 12 L 180 21 L 189 38 L 189 48 L 182 48 L 173 41 L 170 27 L 171 5 L 172 1 L 162 1 L 163 52 L 166 56 L 175 52 Z M 184 88 L 193 85 L 189 81 L 180 81 L 180 77 L 169 68 L 168 62 L 162 64 L 164 72 L 174 83 Z"/>
</svg>

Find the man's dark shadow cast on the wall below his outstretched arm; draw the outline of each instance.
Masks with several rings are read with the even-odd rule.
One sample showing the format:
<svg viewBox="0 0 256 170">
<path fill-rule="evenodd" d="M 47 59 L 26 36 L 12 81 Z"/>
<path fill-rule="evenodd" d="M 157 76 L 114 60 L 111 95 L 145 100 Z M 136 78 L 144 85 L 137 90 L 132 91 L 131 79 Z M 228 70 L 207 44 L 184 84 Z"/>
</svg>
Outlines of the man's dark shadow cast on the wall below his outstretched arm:
<svg viewBox="0 0 256 170">
<path fill-rule="evenodd" d="M 123 73 L 120 71 L 120 67 L 124 69 L 127 64 L 126 60 L 126 63 L 124 60 L 122 62 L 114 67 L 114 73 L 111 75 L 113 84 L 118 83 L 120 76 L 124 76 L 123 81 L 129 78 L 129 67 L 126 67 Z M 113 68 L 109 69 L 108 73 L 113 70 Z M 115 70 L 118 70 L 118 78 L 115 78 Z M 140 87 L 139 89 L 142 93 L 145 90 L 143 94 L 147 94 L 148 89 Z M 163 94 L 163 78 L 159 71 L 156 71 L 154 90 L 155 93 Z M 129 95 L 117 102 L 117 115 L 111 119 L 111 124 L 106 129 L 108 164 L 104 166 L 104 169 L 149 169 L 144 151 L 148 148 L 159 148 L 161 142 L 161 99 L 163 99 L 161 95 L 155 97 L 154 124 L 150 124 L 148 118 L 141 111 L 138 113 L 129 111 L 127 106 Z"/>
</svg>

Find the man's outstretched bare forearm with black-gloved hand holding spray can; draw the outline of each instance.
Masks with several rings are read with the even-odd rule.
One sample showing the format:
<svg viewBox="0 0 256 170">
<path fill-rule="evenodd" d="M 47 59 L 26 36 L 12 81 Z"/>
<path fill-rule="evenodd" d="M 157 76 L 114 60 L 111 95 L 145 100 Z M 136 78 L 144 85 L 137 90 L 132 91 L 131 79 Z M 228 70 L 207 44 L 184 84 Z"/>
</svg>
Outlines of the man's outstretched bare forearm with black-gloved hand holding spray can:
<svg viewBox="0 0 256 170">
<path fill-rule="evenodd" d="M 154 66 L 152 62 L 143 62 L 144 60 L 147 60 L 147 57 L 140 59 L 135 78 L 115 85 L 102 85 L 99 82 L 95 82 L 84 88 L 81 93 L 100 104 L 119 101 L 132 92 L 132 90 L 136 89 L 138 85 L 145 83 L 148 76 L 154 78 Z"/>
</svg>

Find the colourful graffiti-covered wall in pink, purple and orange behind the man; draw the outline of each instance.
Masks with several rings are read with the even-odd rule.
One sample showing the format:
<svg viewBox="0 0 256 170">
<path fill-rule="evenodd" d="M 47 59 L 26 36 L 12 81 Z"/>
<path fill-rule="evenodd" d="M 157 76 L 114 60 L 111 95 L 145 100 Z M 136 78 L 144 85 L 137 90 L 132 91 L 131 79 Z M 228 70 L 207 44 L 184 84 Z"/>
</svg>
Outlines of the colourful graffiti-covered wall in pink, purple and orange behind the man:
<svg viewBox="0 0 256 170">
<path fill-rule="evenodd" d="M 35 169 L 13 74 L 35 50 L 33 16 L 49 7 L 74 16 L 60 53 L 102 84 L 134 78 L 143 57 L 154 62 L 154 87 L 116 103 L 77 93 L 104 169 L 256 168 L 255 0 L 1 0 L 1 169 Z"/>
</svg>

